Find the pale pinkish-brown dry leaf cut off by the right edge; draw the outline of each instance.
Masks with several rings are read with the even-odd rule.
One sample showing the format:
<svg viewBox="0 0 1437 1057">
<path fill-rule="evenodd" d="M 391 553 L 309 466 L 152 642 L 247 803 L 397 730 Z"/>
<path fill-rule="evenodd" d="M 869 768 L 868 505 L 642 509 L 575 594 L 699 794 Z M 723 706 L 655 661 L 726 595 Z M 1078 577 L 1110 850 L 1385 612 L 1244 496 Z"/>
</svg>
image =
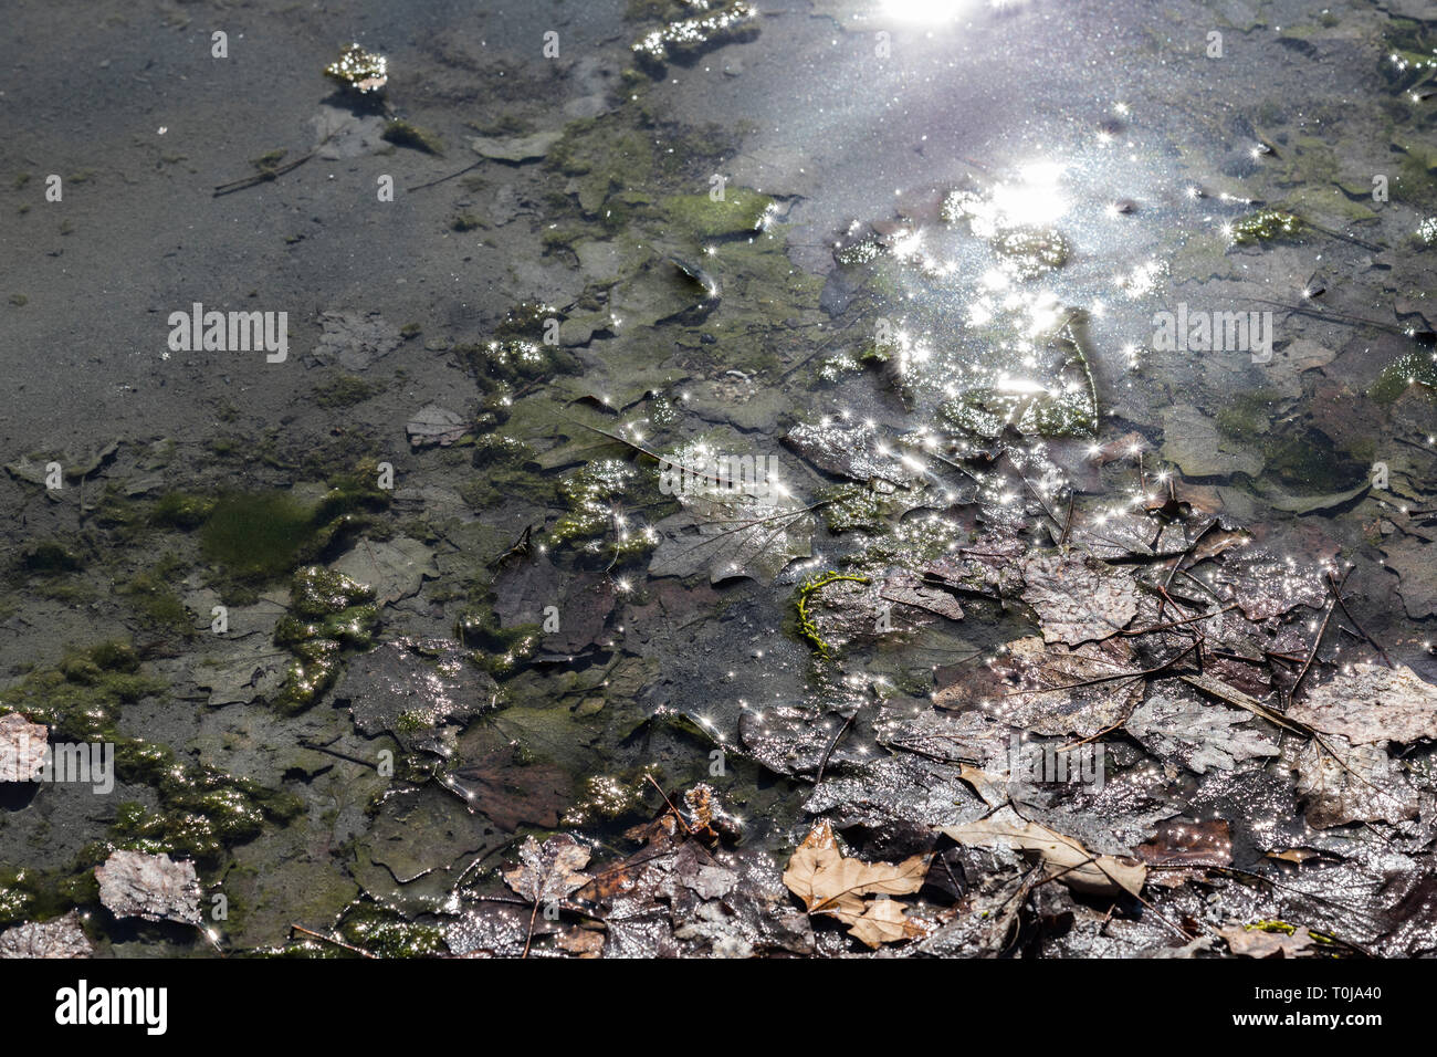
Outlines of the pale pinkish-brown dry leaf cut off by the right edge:
<svg viewBox="0 0 1437 1057">
<path fill-rule="evenodd" d="M 1405 666 L 1349 664 L 1312 687 L 1288 718 L 1354 745 L 1408 745 L 1437 738 L 1437 686 Z"/>
</svg>

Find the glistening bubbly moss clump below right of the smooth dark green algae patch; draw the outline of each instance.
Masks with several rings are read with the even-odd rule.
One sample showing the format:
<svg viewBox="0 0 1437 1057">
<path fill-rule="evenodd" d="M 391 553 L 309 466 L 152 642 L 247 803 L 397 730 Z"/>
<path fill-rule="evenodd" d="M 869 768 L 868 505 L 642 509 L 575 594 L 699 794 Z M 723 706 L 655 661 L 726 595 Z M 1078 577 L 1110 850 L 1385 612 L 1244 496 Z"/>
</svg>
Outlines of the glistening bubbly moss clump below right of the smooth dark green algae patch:
<svg viewBox="0 0 1437 1057">
<path fill-rule="evenodd" d="M 343 651 L 374 646 L 378 626 L 372 588 L 320 565 L 299 569 L 289 613 L 274 627 L 276 646 L 295 654 L 276 708 L 296 713 L 319 700 L 338 677 Z"/>
</svg>

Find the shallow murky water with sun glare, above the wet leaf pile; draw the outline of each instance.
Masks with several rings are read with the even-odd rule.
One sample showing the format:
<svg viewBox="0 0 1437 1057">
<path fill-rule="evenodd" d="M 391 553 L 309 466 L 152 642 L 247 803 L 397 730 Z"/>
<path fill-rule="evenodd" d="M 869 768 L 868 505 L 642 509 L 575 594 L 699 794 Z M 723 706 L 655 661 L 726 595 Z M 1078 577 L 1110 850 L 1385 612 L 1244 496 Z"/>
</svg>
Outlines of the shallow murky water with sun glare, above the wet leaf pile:
<svg viewBox="0 0 1437 1057">
<path fill-rule="evenodd" d="M 683 9 L 16 7 L 0 702 L 129 755 L 105 797 L 4 787 L 0 923 L 93 907 L 125 847 L 194 857 L 230 913 L 214 941 L 102 915 L 101 951 L 342 922 L 517 953 L 474 897 L 507 892 L 525 836 L 618 857 L 660 788 L 704 781 L 734 861 L 782 866 L 818 815 L 908 854 L 910 825 L 977 801 L 874 771 L 905 759 L 875 703 L 918 715 L 1036 624 L 964 597 L 872 631 L 874 581 L 996 528 L 1115 558 L 1164 498 L 1253 534 L 1272 568 L 1239 591 L 1318 584 L 1277 651 L 1318 631 L 1325 564 L 1346 572 L 1351 630 L 1311 679 L 1374 660 L 1369 636 L 1437 680 L 1437 155 L 1424 73 L 1390 58 L 1431 55 L 1437 10 L 790 0 L 637 59 Z M 322 76 L 349 40 L 388 58 L 382 102 Z M 381 138 L 398 119 L 441 152 Z M 1265 209 L 1300 227 L 1244 240 Z M 283 361 L 175 348 L 197 302 L 287 314 Z M 1270 347 L 1163 347 L 1161 314 L 1249 311 Z M 652 456 L 698 446 L 776 459 L 785 490 L 673 495 Z M 308 565 L 374 597 L 305 613 Z M 839 569 L 859 580 L 821 588 L 806 636 L 805 584 Z M 82 669 L 106 640 L 134 663 Z M 1229 818 L 1256 869 L 1292 794 L 1234 788 L 1270 768 L 1102 810 L 1138 838 Z M 1420 846 L 1420 817 L 1391 838 Z M 639 933 L 611 942 L 668 952 Z"/>
</svg>

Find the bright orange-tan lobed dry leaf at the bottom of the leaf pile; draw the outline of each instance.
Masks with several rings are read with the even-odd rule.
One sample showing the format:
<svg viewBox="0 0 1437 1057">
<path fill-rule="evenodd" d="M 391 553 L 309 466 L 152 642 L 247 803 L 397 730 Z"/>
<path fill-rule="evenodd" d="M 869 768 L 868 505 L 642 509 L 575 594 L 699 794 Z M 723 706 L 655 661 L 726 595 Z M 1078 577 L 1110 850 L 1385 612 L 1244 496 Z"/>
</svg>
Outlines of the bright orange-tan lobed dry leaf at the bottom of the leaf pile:
<svg viewBox="0 0 1437 1057">
<path fill-rule="evenodd" d="M 865 863 L 838 850 L 833 828 L 819 821 L 803 838 L 783 871 L 783 884 L 803 900 L 809 913 L 826 913 L 848 925 L 849 933 L 868 946 L 923 935 L 892 900 L 864 896 L 908 896 L 923 887 L 931 856 L 910 856 L 901 863 Z M 888 903 L 888 906 L 879 906 Z"/>
</svg>

